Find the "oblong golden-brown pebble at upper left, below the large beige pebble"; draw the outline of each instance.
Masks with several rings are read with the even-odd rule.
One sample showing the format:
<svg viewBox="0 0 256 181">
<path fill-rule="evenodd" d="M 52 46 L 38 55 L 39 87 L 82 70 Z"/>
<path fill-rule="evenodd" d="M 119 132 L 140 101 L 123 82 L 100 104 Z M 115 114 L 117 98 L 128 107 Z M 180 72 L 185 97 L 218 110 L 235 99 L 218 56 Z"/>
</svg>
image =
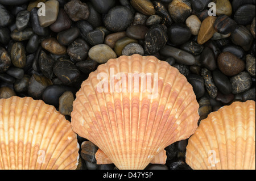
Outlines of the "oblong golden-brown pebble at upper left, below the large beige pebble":
<svg viewBox="0 0 256 181">
<path fill-rule="evenodd" d="M 53 54 L 61 55 L 67 53 L 67 48 L 61 45 L 55 37 L 44 39 L 41 46 Z"/>
</svg>

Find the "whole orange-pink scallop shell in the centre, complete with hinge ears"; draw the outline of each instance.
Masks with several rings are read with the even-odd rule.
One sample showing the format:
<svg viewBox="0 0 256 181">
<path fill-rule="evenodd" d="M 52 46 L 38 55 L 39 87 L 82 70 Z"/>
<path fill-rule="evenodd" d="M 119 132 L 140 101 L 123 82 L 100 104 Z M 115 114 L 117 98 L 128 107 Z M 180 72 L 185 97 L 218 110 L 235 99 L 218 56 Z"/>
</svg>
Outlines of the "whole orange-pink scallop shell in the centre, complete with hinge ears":
<svg viewBox="0 0 256 181">
<path fill-rule="evenodd" d="M 142 75 L 139 83 L 136 73 Z M 151 75 L 146 83 L 143 73 Z M 98 89 L 99 84 L 106 89 Z M 71 126 L 118 169 L 144 169 L 166 146 L 195 132 L 198 108 L 192 86 L 176 68 L 134 54 L 110 59 L 90 73 L 73 102 Z"/>
</svg>

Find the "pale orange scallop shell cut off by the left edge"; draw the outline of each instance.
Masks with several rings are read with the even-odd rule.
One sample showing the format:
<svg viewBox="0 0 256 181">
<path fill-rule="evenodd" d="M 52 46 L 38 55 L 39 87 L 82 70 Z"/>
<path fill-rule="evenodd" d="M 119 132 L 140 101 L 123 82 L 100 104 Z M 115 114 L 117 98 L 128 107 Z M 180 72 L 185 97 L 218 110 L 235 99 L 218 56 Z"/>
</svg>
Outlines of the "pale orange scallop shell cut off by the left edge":
<svg viewBox="0 0 256 181">
<path fill-rule="evenodd" d="M 76 169 L 77 135 L 42 100 L 0 99 L 0 170 Z"/>
</svg>

